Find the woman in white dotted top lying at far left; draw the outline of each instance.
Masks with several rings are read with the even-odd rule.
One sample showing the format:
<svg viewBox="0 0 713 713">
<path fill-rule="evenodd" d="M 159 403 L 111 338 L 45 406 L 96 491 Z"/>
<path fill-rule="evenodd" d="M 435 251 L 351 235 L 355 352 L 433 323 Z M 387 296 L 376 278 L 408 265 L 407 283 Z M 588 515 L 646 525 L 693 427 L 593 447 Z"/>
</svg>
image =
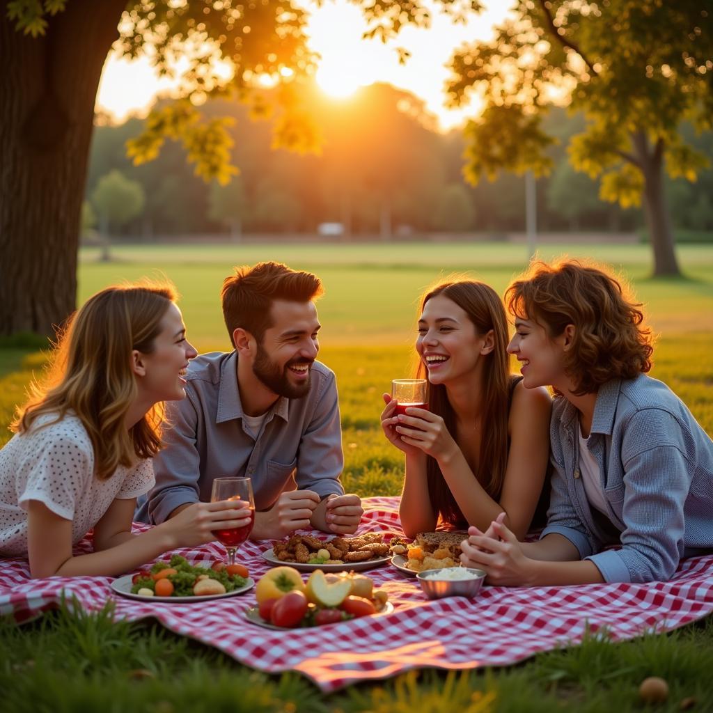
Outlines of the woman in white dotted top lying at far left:
<svg viewBox="0 0 713 713">
<path fill-rule="evenodd" d="M 197 354 L 175 297 L 146 283 L 88 299 L 19 409 L 0 451 L 0 555 L 27 556 L 32 577 L 117 575 L 250 520 L 241 503 L 198 503 L 131 533 L 136 498 L 153 486 L 163 401 L 185 397 Z M 95 551 L 74 555 L 90 530 Z"/>
</svg>

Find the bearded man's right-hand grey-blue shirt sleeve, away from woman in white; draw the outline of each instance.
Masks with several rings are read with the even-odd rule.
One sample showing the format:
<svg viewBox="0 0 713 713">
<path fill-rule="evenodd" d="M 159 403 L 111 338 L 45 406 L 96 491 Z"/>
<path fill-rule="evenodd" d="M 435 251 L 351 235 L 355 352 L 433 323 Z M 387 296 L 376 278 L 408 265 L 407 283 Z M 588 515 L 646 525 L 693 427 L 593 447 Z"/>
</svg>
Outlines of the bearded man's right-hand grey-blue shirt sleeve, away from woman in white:
<svg viewBox="0 0 713 713">
<path fill-rule="evenodd" d="M 326 384 L 317 399 L 314 415 L 299 443 L 295 474 L 300 490 L 314 491 L 320 498 L 344 494 L 339 482 L 344 456 L 337 383 L 331 371 L 324 379 Z"/>
</svg>

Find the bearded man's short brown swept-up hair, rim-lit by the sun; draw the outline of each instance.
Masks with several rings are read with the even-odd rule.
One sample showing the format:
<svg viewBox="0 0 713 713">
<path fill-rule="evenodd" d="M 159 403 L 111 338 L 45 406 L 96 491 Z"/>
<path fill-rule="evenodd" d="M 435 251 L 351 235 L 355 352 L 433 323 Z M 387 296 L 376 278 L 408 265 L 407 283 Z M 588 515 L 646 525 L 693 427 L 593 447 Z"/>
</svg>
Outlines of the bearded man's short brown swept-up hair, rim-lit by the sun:
<svg viewBox="0 0 713 713">
<path fill-rule="evenodd" d="M 266 329 L 272 327 L 270 309 L 276 299 L 288 302 L 310 302 L 322 295 L 322 280 L 311 272 L 292 270 L 282 262 L 258 262 L 254 267 L 242 265 L 235 275 L 223 280 L 223 318 L 230 335 L 242 327 L 258 344 Z"/>
</svg>

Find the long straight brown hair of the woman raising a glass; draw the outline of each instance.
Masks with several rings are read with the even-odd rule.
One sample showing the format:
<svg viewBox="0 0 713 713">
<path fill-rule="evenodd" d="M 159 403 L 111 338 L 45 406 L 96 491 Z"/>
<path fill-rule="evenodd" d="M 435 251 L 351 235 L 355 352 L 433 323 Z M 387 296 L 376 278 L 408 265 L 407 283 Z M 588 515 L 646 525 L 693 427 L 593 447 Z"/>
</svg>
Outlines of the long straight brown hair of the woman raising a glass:
<svg viewBox="0 0 713 713">
<path fill-rule="evenodd" d="M 461 279 L 443 282 L 429 289 L 421 298 L 421 312 L 431 297 L 443 295 L 461 307 L 473 323 L 478 334 L 493 330 L 493 351 L 483 356 L 481 453 L 474 475 L 491 498 L 498 500 L 503 490 L 508 464 L 508 401 L 510 392 L 510 369 L 508 368 L 508 320 L 505 307 L 497 292 L 483 282 Z M 419 361 L 417 375 L 428 379 L 428 372 Z M 443 384 L 429 381 L 429 409 L 443 418 L 451 436 L 456 435 L 456 414 L 448 401 Z M 448 483 L 443 478 L 438 461 L 428 456 L 426 478 L 429 485 L 431 506 L 438 517 L 452 525 L 463 525 L 466 518 L 456 503 Z"/>
</svg>

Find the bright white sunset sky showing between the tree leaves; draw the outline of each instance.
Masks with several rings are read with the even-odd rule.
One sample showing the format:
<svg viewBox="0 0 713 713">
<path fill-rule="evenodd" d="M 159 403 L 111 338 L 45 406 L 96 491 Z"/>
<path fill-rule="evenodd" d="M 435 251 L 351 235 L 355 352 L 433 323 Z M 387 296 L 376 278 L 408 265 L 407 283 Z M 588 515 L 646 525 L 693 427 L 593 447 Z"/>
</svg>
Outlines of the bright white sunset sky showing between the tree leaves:
<svg viewBox="0 0 713 713">
<path fill-rule="evenodd" d="M 310 47 L 322 56 L 317 82 L 334 98 L 350 96 L 359 86 L 376 81 L 389 82 L 419 96 L 426 108 L 438 117 L 441 128 L 451 128 L 468 115 L 477 113 L 473 105 L 466 111 L 443 108 L 445 67 L 453 48 L 476 39 L 488 39 L 511 6 L 509 0 L 491 0 L 487 9 L 468 21 L 453 25 L 447 16 L 434 12 L 431 28 L 404 29 L 399 38 L 384 45 L 379 40 L 364 41 L 366 23 L 358 8 L 346 0 L 314 7 L 307 28 Z M 406 66 L 399 65 L 396 47 L 411 52 Z M 157 92 L 170 92 L 173 84 L 158 79 L 148 61 L 128 62 L 111 55 L 106 61 L 97 98 L 97 108 L 116 120 L 129 113 L 148 111 Z"/>
</svg>

